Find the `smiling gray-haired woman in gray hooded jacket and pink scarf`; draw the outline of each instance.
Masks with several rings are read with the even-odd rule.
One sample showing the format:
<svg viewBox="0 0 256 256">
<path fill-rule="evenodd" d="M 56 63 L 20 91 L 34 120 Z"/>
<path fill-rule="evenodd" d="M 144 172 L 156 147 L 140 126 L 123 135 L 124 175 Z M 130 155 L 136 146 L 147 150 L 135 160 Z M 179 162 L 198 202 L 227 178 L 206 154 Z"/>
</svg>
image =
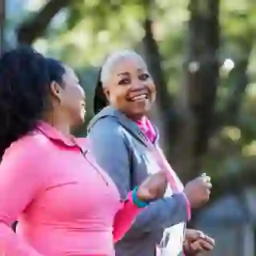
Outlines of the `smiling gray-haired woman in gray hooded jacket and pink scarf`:
<svg viewBox="0 0 256 256">
<path fill-rule="evenodd" d="M 165 198 L 158 199 L 138 215 L 122 241 L 117 256 L 196 255 L 212 250 L 213 239 L 197 230 L 186 230 L 190 207 L 209 200 L 210 177 L 195 178 L 185 188 L 158 145 L 158 130 L 147 117 L 156 88 L 142 57 L 122 50 L 106 59 L 96 87 L 97 113 L 88 126 L 88 137 L 98 164 L 118 186 L 122 198 L 140 182 L 166 171 Z M 185 239 L 184 239 L 185 234 Z"/>
</svg>

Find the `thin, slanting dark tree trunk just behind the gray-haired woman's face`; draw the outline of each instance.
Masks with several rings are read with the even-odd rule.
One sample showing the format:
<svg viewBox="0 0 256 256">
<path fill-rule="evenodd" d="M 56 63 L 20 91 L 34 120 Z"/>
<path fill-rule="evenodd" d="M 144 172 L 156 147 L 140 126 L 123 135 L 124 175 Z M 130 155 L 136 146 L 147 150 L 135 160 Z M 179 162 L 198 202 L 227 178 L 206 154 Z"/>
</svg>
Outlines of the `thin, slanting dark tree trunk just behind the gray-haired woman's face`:
<svg viewBox="0 0 256 256">
<path fill-rule="evenodd" d="M 178 116 L 174 108 L 173 98 L 168 92 L 165 74 L 162 70 L 162 56 L 159 52 L 158 43 L 154 39 L 151 10 L 154 10 L 154 1 L 145 2 L 146 18 L 144 21 L 145 36 L 142 39 L 142 47 L 146 63 L 154 83 L 157 87 L 157 100 L 154 107 L 153 117 L 160 130 L 160 143 L 165 151 L 166 158 L 172 162 L 172 148 L 175 144 L 175 134 L 178 130 Z"/>
</svg>

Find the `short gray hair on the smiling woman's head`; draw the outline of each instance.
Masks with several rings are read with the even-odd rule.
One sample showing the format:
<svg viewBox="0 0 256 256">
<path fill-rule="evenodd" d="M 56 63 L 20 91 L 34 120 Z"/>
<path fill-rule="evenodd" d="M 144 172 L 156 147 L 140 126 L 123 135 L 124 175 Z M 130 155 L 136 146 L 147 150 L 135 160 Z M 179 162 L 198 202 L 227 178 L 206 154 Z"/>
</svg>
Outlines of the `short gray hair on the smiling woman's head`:
<svg viewBox="0 0 256 256">
<path fill-rule="evenodd" d="M 120 59 L 126 58 L 126 57 L 138 58 L 143 63 L 145 63 L 142 56 L 137 54 L 134 50 L 118 50 L 118 51 L 115 51 L 114 53 L 110 54 L 106 58 L 106 62 L 102 66 L 102 72 L 101 72 L 100 80 L 102 82 L 103 87 L 106 86 L 106 82 L 110 78 L 110 74 L 111 74 L 111 71 L 114 67 L 114 64 L 116 62 L 118 62 Z"/>
</svg>

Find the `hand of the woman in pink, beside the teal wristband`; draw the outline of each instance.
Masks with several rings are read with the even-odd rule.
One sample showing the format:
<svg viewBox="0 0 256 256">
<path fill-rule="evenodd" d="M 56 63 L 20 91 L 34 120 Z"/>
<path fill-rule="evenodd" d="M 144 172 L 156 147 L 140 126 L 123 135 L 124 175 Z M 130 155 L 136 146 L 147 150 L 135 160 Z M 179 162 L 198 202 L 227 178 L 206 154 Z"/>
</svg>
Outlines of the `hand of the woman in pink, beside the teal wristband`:
<svg viewBox="0 0 256 256">
<path fill-rule="evenodd" d="M 144 202 L 162 198 L 166 193 L 166 186 L 167 179 L 164 172 L 152 174 L 138 187 L 137 197 Z"/>
</svg>

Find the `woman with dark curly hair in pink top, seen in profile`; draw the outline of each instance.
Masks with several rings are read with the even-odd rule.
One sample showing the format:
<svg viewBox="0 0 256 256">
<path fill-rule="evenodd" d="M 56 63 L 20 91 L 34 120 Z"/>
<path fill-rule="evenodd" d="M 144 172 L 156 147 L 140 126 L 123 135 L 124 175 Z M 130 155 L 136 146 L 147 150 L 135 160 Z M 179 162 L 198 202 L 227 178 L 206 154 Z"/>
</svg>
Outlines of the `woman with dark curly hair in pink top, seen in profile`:
<svg viewBox="0 0 256 256">
<path fill-rule="evenodd" d="M 160 173 L 121 202 L 114 182 L 70 134 L 85 113 L 85 94 L 70 67 L 29 47 L 3 54 L 1 255 L 113 256 L 134 217 L 164 193 Z"/>
</svg>

